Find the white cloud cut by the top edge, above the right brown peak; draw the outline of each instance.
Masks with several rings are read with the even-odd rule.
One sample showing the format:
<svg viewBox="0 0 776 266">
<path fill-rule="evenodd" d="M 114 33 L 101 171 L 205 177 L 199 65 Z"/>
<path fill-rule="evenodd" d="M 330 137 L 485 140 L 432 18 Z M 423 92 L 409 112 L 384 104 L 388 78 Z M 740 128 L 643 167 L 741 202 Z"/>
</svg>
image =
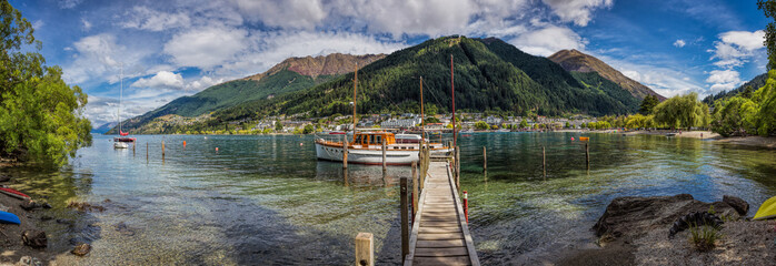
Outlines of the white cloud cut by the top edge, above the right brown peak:
<svg viewBox="0 0 776 266">
<path fill-rule="evenodd" d="M 576 25 L 586 27 L 593 20 L 593 11 L 611 8 L 614 0 L 541 0 L 549 6 L 563 21 L 574 21 Z"/>
</svg>

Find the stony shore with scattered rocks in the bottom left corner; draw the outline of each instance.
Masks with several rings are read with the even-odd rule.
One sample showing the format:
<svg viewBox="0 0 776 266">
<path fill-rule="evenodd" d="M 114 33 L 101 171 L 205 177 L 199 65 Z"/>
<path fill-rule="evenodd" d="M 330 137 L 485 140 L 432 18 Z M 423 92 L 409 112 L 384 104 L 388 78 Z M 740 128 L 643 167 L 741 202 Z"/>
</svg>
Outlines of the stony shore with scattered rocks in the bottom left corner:
<svg viewBox="0 0 776 266">
<path fill-rule="evenodd" d="M 0 174 L 0 185 L 10 186 L 12 183 L 12 177 Z M 0 223 L 0 265 L 53 265 L 56 256 L 61 254 L 83 256 L 90 250 L 88 243 L 60 239 L 64 234 L 56 234 L 60 237 L 57 238 L 44 231 L 78 231 L 78 223 L 72 217 L 82 217 L 84 212 L 71 208 L 52 211 L 43 198 L 22 200 L 6 194 L 0 194 L 0 211 L 16 214 L 21 221 L 19 225 Z"/>
</svg>

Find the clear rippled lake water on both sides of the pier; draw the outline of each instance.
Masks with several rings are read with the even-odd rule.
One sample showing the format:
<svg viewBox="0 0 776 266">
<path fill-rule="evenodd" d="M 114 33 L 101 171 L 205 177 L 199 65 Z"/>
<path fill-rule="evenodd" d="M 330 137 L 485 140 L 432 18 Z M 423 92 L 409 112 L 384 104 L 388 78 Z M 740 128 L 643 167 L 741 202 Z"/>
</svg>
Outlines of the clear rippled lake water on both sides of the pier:
<svg viewBox="0 0 776 266">
<path fill-rule="evenodd" d="M 753 215 L 776 194 L 773 150 L 593 134 L 587 170 L 584 144 L 570 141 L 578 135 L 459 137 L 461 188 L 484 264 L 589 245 L 590 227 L 617 196 L 730 194 L 749 202 Z M 48 197 L 54 212 L 70 197 L 107 207 L 74 226 L 41 222 L 58 239 L 52 248 L 91 242 L 88 257 L 62 255 L 63 264 L 342 265 L 358 232 L 375 234 L 378 264 L 400 263 L 398 177 L 409 167 L 384 175 L 380 166 L 349 165 L 346 177 L 341 164 L 316 161 L 312 136 L 138 136 L 135 152 L 116 151 L 110 140 L 96 135 L 54 173 L 9 170 L 19 176 L 14 187 Z"/>
</svg>

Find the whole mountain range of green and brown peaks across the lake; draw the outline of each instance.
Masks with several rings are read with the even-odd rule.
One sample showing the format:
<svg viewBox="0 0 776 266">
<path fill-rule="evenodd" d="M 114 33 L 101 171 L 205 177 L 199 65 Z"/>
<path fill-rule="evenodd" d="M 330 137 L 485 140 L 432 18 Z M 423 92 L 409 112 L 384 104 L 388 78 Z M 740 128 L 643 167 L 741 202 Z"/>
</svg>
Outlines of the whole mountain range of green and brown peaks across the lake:
<svg viewBox="0 0 776 266">
<path fill-rule="evenodd" d="M 159 133 L 223 129 L 229 122 L 268 115 L 347 114 L 351 112 L 356 65 L 361 66 L 359 113 L 419 112 L 420 76 L 426 104 L 448 112 L 450 61 L 456 108 L 464 112 L 627 114 L 636 112 L 644 96 L 657 95 L 576 50 L 543 58 L 496 38 L 455 35 L 427 40 L 388 55 L 335 53 L 287 59 L 263 73 L 177 99 L 128 120 L 123 126 L 133 133 Z M 169 115 L 198 119 L 182 124 L 172 122 Z M 163 121 L 163 125 L 150 129 L 148 124 L 153 120 Z"/>
</svg>

